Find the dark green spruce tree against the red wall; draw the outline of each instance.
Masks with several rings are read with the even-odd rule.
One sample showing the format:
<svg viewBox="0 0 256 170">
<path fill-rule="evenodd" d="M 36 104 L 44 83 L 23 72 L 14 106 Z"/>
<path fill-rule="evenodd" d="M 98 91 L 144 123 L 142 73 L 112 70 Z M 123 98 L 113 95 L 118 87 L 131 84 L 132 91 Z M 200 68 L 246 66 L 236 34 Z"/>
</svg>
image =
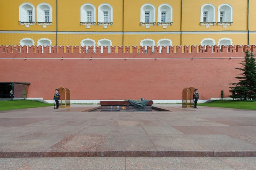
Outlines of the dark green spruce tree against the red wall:
<svg viewBox="0 0 256 170">
<path fill-rule="evenodd" d="M 235 85 L 230 87 L 231 98 L 243 99 L 243 100 L 255 100 L 256 99 L 256 62 L 253 58 L 253 53 L 248 50 L 245 52 L 244 61 L 240 63 L 242 68 L 236 68 L 240 70 L 240 76 L 236 78 L 239 80 L 238 83 L 231 83 Z"/>
</svg>

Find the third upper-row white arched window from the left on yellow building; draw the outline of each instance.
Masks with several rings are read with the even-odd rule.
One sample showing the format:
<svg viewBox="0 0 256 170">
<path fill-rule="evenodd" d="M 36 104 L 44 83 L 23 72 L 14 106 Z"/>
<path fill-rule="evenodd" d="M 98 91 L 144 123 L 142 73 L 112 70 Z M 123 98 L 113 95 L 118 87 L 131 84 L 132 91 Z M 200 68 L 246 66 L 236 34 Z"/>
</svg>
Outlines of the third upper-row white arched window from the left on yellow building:
<svg viewBox="0 0 256 170">
<path fill-rule="evenodd" d="M 80 8 L 80 24 L 81 26 L 90 26 L 96 25 L 96 8 L 91 3 L 85 3 Z"/>
</svg>

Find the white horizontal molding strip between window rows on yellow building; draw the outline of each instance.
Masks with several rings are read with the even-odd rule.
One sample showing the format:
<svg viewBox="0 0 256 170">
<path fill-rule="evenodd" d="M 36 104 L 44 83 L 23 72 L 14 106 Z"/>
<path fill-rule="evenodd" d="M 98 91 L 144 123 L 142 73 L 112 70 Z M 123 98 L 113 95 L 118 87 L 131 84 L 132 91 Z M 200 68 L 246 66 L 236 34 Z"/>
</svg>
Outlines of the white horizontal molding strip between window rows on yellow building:
<svg viewBox="0 0 256 170">
<path fill-rule="evenodd" d="M 0 31 L 6 34 L 56 34 L 55 31 Z M 122 35 L 122 32 L 58 32 L 58 34 L 84 34 L 84 35 Z M 124 35 L 159 35 L 173 34 L 180 35 L 180 31 L 172 32 L 124 32 Z M 183 31 L 182 34 L 247 34 L 247 31 Z M 250 32 L 256 34 L 256 31 Z"/>
</svg>

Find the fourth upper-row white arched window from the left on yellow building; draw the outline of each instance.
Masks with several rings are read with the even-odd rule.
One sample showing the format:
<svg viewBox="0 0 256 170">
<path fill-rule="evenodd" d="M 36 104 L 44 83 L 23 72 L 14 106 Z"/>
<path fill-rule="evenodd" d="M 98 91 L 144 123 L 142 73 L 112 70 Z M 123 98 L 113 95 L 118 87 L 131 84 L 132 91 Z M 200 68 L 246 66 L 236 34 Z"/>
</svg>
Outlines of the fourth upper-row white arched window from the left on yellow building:
<svg viewBox="0 0 256 170">
<path fill-rule="evenodd" d="M 113 26 L 113 7 L 108 3 L 102 3 L 98 7 L 98 26 Z"/>
</svg>

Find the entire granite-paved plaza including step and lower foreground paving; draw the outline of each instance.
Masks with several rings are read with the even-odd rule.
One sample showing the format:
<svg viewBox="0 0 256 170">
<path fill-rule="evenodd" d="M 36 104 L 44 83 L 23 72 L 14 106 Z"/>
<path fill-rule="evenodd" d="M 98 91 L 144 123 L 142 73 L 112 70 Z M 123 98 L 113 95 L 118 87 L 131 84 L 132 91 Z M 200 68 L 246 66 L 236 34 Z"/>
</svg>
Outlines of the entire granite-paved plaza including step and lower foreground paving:
<svg viewBox="0 0 256 170">
<path fill-rule="evenodd" d="M 0 170 L 256 170 L 256 111 L 0 111 Z"/>
</svg>

